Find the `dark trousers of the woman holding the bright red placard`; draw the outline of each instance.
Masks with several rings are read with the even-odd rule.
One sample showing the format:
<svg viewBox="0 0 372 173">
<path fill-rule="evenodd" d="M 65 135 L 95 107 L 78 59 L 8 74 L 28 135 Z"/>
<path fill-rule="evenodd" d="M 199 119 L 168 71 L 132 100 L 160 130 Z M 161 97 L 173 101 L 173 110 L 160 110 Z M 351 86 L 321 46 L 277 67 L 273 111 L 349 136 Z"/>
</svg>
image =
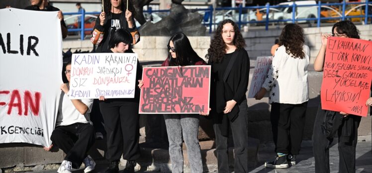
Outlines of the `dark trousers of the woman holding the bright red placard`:
<svg viewBox="0 0 372 173">
<path fill-rule="evenodd" d="M 321 105 L 319 105 L 321 106 Z M 324 123 L 325 113 L 321 111 L 321 107 L 318 108 L 318 113 L 314 122 L 313 129 L 313 154 L 315 159 L 315 173 L 330 173 L 329 169 L 329 148 L 333 142 L 333 136 L 328 137 L 324 134 L 322 130 L 322 123 Z M 336 116 L 343 116 L 337 114 Z M 338 151 L 339 151 L 339 173 L 355 173 L 355 154 L 358 142 L 358 127 L 361 122 L 361 116 L 349 115 L 343 118 L 342 124 L 337 130 L 338 134 Z M 352 135 L 348 142 L 341 141 L 342 136 L 345 136 L 345 131 L 343 126 L 348 124 L 347 121 L 352 121 L 354 125 L 352 130 Z"/>
</svg>

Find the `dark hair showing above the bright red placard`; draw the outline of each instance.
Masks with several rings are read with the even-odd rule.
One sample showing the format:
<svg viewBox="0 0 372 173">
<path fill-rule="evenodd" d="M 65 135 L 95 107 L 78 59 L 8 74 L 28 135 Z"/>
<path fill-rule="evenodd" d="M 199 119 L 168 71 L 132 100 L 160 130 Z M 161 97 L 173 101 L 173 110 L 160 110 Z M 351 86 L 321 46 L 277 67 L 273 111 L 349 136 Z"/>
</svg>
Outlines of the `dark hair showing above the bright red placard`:
<svg viewBox="0 0 372 173">
<path fill-rule="evenodd" d="M 335 28 L 338 34 L 346 34 L 349 38 L 360 39 L 359 30 L 354 25 L 354 23 L 349 20 L 339 21 L 335 23 L 332 27 L 332 34 L 334 34 L 333 31 Z"/>
</svg>

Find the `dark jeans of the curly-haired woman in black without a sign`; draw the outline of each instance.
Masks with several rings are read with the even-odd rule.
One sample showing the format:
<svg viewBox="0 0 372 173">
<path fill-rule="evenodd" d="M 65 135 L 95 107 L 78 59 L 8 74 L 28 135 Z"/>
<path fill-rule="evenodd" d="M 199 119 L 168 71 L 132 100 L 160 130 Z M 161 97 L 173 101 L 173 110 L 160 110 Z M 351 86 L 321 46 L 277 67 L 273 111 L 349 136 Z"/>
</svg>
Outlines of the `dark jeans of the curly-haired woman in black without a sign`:
<svg viewBox="0 0 372 173">
<path fill-rule="evenodd" d="M 247 115 L 247 100 L 244 100 L 239 106 L 239 115 L 230 122 L 232 137 L 234 141 L 234 172 L 235 173 L 248 173 L 248 115 Z M 225 115 L 227 116 L 227 115 Z M 228 159 L 228 137 L 221 135 L 221 124 L 214 124 L 214 132 L 216 135 L 216 154 L 218 173 L 229 172 L 229 159 Z"/>
</svg>

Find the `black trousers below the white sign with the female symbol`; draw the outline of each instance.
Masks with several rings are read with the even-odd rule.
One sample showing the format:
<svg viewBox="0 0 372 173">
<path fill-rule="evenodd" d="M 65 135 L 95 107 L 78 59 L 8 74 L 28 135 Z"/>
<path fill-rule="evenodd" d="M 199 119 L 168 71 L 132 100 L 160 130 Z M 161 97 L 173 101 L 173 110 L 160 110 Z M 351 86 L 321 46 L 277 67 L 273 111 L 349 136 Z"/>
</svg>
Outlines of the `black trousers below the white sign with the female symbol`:
<svg viewBox="0 0 372 173">
<path fill-rule="evenodd" d="M 106 159 L 136 160 L 140 157 L 138 102 L 101 101 L 102 113 L 107 134 Z"/>
</svg>

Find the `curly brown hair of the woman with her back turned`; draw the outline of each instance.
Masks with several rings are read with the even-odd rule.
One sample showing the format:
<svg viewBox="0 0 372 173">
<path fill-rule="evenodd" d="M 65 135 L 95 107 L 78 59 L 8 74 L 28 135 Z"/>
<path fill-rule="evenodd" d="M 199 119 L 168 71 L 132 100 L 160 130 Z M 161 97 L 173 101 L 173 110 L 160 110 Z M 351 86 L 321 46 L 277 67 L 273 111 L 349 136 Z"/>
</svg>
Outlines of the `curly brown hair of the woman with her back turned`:
<svg viewBox="0 0 372 173">
<path fill-rule="evenodd" d="M 284 45 L 285 52 L 293 58 L 304 58 L 305 53 L 303 52 L 303 44 L 305 43 L 305 37 L 303 36 L 303 29 L 297 24 L 290 23 L 286 24 L 281 31 L 279 36 L 279 45 Z"/>
</svg>

